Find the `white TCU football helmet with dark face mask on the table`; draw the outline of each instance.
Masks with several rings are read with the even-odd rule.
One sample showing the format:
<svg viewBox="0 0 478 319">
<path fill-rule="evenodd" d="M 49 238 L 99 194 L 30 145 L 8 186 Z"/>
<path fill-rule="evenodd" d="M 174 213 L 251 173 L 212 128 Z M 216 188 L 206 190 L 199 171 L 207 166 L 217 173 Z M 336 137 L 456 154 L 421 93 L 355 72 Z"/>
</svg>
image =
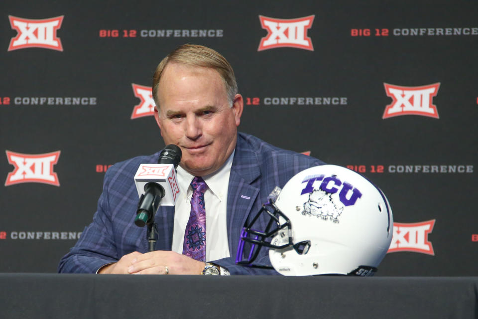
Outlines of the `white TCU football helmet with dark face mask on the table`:
<svg viewBox="0 0 478 319">
<path fill-rule="evenodd" d="M 392 235 L 392 211 L 379 188 L 348 168 L 321 165 L 274 189 L 245 225 L 236 261 L 267 268 L 252 264 L 265 246 L 282 275 L 371 276 Z"/>
</svg>

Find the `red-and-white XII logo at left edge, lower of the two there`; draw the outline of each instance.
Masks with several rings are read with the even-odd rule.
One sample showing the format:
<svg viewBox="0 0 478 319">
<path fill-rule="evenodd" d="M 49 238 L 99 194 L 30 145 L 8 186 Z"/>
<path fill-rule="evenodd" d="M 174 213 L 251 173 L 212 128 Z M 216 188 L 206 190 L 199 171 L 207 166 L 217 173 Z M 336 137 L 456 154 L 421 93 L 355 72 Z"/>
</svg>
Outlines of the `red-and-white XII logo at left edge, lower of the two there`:
<svg viewBox="0 0 478 319">
<path fill-rule="evenodd" d="M 45 183 L 60 186 L 53 165 L 58 162 L 60 151 L 46 154 L 21 154 L 5 151 L 8 163 L 15 166 L 6 176 L 5 186 L 18 183 Z"/>
</svg>

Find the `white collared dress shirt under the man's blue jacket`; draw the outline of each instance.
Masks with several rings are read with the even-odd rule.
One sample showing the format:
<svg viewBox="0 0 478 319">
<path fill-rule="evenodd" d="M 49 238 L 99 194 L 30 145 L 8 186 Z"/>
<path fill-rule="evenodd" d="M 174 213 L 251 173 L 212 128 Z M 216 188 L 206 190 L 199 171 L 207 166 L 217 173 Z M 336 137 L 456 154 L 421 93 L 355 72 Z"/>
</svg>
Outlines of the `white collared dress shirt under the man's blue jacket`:
<svg viewBox="0 0 478 319">
<path fill-rule="evenodd" d="M 230 257 L 226 211 L 228 202 L 229 175 L 233 164 L 234 153 L 216 172 L 203 176 L 208 185 L 204 192 L 206 208 L 206 261 Z M 177 168 L 179 198 L 174 212 L 174 228 L 172 251 L 183 253 L 184 233 L 191 213 L 191 197 L 193 189 L 191 181 L 195 176 L 181 166 Z"/>
</svg>

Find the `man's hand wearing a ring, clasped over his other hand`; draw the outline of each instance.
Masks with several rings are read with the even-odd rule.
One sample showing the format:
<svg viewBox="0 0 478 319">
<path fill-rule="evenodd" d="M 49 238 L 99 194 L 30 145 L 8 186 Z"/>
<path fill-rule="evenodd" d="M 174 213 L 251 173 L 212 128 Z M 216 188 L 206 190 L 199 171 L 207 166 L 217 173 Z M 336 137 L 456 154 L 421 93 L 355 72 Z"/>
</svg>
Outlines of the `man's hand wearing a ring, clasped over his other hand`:
<svg viewBox="0 0 478 319">
<path fill-rule="evenodd" d="M 157 250 L 137 255 L 136 258 L 131 260 L 131 265 L 127 271 L 129 274 L 200 275 L 205 265 L 202 261 L 194 260 L 176 252 Z"/>
</svg>

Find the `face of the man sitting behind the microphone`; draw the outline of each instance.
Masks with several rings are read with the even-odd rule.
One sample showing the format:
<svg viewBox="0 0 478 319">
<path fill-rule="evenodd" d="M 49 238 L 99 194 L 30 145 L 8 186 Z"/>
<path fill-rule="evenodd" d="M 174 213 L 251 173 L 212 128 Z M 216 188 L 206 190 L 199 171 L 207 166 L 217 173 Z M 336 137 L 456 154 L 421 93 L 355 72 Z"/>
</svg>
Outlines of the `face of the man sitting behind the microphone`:
<svg viewBox="0 0 478 319">
<path fill-rule="evenodd" d="M 243 101 L 230 107 L 220 74 L 210 68 L 168 63 L 158 86 L 154 117 L 165 145 L 181 148 L 181 167 L 195 176 L 218 170 L 237 142 Z"/>
</svg>

